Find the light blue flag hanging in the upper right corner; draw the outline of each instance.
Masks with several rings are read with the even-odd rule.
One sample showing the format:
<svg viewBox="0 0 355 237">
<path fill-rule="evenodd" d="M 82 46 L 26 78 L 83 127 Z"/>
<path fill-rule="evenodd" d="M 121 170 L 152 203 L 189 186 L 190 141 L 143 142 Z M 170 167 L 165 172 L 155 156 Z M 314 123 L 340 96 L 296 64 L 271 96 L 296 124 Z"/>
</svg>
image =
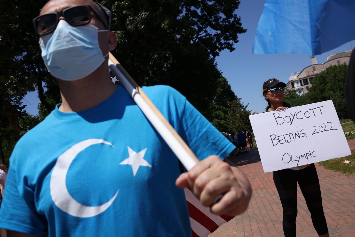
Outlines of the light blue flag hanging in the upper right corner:
<svg viewBox="0 0 355 237">
<path fill-rule="evenodd" d="M 355 0 L 266 0 L 255 54 L 318 55 L 355 39 Z"/>
</svg>

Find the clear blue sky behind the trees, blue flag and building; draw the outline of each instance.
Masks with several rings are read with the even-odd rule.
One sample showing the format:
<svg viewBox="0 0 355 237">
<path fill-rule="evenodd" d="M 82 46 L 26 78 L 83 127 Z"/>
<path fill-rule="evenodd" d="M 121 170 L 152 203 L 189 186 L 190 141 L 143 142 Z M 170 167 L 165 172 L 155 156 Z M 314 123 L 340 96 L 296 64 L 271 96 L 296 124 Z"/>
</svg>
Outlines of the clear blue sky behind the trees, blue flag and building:
<svg viewBox="0 0 355 237">
<path fill-rule="evenodd" d="M 269 78 L 276 78 L 287 83 L 292 72 L 301 72 L 311 64 L 311 55 L 301 54 L 252 54 L 251 49 L 255 38 L 256 27 L 263 11 L 265 1 L 241 0 L 237 15 L 241 17 L 242 26 L 247 32 L 239 35 L 239 42 L 235 44 L 236 50 L 225 50 L 216 59 L 218 69 L 229 81 L 232 90 L 248 109 L 262 113 L 266 101 L 262 97 L 262 84 Z M 355 41 L 351 42 L 355 47 Z M 351 49 L 350 42 L 321 55 L 315 55 L 318 63 L 326 62 L 329 54 L 344 52 Z M 37 114 L 37 92 L 31 92 L 23 100 L 27 104 L 26 111 Z"/>
</svg>

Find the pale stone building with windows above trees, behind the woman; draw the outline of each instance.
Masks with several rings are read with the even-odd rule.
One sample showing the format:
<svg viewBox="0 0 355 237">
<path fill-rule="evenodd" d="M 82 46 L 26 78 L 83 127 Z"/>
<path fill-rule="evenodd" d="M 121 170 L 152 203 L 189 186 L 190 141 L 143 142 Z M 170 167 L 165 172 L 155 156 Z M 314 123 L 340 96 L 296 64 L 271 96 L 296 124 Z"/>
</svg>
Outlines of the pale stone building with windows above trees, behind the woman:
<svg viewBox="0 0 355 237">
<path fill-rule="evenodd" d="M 345 51 L 338 54 L 331 54 L 327 57 L 325 63 L 317 63 L 316 56 L 311 57 L 312 64 L 304 68 L 300 73 L 293 72 L 286 84 L 287 90 L 296 90 L 296 93 L 303 95 L 308 92 L 312 86 L 312 79 L 315 75 L 326 70 L 330 65 L 340 65 L 345 63 L 349 65 L 350 54 L 353 50 Z"/>
</svg>

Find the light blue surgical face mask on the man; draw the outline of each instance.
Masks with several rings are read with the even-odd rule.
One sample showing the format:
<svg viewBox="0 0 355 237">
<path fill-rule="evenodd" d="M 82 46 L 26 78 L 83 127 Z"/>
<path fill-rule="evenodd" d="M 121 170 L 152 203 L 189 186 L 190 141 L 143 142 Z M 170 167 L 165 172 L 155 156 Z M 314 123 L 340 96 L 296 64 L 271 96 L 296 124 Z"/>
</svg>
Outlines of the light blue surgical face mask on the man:
<svg viewBox="0 0 355 237">
<path fill-rule="evenodd" d="M 41 36 L 39 46 L 50 74 L 75 81 L 95 71 L 108 55 L 101 52 L 97 32 L 98 28 L 90 24 L 74 27 L 60 20 L 53 33 Z"/>
</svg>

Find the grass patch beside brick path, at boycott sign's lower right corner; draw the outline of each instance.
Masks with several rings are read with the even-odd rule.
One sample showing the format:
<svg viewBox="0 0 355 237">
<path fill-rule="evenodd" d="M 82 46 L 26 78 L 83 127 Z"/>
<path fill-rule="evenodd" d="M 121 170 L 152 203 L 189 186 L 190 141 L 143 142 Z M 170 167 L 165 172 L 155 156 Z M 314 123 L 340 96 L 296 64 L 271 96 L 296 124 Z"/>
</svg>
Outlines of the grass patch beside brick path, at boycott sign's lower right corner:
<svg viewBox="0 0 355 237">
<path fill-rule="evenodd" d="M 344 161 L 346 160 L 350 161 L 350 163 L 344 163 Z M 351 151 L 350 156 L 333 160 L 321 161 L 318 162 L 318 164 L 326 169 L 330 169 L 331 171 L 339 172 L 346 176 L 355 178 L 355 150 Z"/>
</svg>

